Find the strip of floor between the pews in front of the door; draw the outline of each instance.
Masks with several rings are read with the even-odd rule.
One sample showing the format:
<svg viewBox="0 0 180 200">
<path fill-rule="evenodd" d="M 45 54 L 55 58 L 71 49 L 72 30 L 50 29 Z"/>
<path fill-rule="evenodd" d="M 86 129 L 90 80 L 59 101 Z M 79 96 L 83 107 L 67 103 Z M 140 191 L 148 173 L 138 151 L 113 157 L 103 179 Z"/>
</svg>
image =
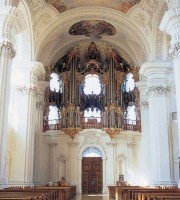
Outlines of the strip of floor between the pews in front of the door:
<svg viewBox="0 0 180 200">
<path fill-rule="evenodd" d="M 107 194 L 76 194 L 72 200 L 111 200 Z"/>
</svg>

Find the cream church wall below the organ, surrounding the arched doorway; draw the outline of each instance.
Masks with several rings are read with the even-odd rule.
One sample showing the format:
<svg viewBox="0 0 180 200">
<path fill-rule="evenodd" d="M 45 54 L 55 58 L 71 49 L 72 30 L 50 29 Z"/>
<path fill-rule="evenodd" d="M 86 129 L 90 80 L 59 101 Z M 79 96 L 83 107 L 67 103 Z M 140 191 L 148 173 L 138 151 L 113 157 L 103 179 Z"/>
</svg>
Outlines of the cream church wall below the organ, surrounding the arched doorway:
<svg viewBox="0 0 180 200">
<path fill-rule="evenodd" d="M 53 145 L 54 150 L 50 151 L 49 161 L 52 160 L 52 157 L 55 157 L 55 160 L 49 166 L 51 174 L 49 181 L 57 182 L 64 176 L 68 184 L 77 185 L 77 190 L 81 193 L 82 152 L 87 147 L 94 146 L 99 148 L 103 155 L 103 192 L 107 192 L 106 186 L 116 184 L 120 172 L 123 173 L 125 181 L 137 184 L 135 172 L 138 170 L 139 148 L 137 144 L 140 138 L 138 133 L 123 133 L 122 136 L 111 140 L 105 132 L 90 129 L 76 135 L 74 140 L 62 133 L 53 132 L 43 137 L 51 141 L 53 135 L 56 138 L 53 139 L 53 143 L 56 142 L 56 145 Z M 136 145 L 137 147 L 134 148 Z M 50 149 L 52 146 L 49 145 L 48 148 Z M 47 164 L 47 160 L 44 157 L 41 165 L 44 166 L 45 163 Z M 54 167 L 52 167 L 53 165 Z"/>
</svg>

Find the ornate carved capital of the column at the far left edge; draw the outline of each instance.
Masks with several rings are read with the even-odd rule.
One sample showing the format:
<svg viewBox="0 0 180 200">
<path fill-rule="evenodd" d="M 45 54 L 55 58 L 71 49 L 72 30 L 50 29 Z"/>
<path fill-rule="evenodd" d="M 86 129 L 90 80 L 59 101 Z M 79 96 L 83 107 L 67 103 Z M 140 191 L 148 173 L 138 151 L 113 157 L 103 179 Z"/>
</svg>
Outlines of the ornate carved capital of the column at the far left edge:
<svg viewBox="0 0 180 200">
<path fill-rule="evenodd" d="M 13 48 L 13 45 L 8 42 L 8 41 L 3 41 L 2 43 L 0 43 L 0 55 L 8 55 L 11 58 L 15 57 L 15 50 Z"/>
</svg>

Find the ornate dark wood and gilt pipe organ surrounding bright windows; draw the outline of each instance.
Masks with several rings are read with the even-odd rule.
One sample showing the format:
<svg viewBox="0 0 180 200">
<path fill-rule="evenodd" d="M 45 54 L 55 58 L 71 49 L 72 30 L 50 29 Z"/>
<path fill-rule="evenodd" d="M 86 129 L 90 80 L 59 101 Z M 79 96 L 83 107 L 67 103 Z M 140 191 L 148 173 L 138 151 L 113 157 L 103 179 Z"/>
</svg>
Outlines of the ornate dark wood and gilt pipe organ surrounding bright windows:
<svg viewBox="0 0 180 200">
<path fill-rule="evenodd" d="M 83 48 L 75 46 L 47 69 L 46 79 L 50 80 L 53 72 L 58 74 L 61 89 L 46 90 L 44 131 L 60 129 L 72 138 L 85 128 L 103 129 L 110 135 L 120 130 L 140 131 L 139 91 L 136 87 L 131 91 L 125 89 L 127 74 L 138 80 L 138 68 L 129 65 L 112 47 L 99 48 L 95 42 Z M 87 75 L 99 78 L 99 94 L 84 92 Z M 59 118 L 54 124 L 48 120 L 50 105 L 58 109 Z M 136 113 L 132 124 L 127 120 L 130 105 L 135 106 Z M 85 120 L 85 110 L 99 110 L 100 120 L 93 117 Z"/>
</svg>

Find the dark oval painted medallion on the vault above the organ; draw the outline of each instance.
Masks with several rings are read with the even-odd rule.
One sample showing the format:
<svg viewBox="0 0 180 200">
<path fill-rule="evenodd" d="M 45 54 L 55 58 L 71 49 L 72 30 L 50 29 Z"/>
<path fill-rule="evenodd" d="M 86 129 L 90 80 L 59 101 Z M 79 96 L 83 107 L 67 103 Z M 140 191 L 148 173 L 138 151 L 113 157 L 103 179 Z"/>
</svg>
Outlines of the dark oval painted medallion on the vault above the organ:
<svg viewBox="0 0 180 200">
<path fill-rule="evenodd" d="M 116 29 L 105 21 L 83 20 L 72 25 L 69 29 L 69 33 L 71 35 L 85 35 L 91 38 L 101 38 L 102 35 L 115 35 Z"/>
</svg>

